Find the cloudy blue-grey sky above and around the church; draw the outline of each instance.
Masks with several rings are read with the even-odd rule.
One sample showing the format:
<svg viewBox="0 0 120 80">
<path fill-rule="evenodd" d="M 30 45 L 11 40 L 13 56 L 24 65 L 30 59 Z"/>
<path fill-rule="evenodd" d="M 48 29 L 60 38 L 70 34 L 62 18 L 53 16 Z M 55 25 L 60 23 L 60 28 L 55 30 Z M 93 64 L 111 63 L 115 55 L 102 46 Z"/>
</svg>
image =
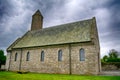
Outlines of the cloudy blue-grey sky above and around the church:
<svg viewBox="0 0 120 80">
<path fill-rule="evenodd" d="M 120 0 L 0 0 L 0 49 L 30 30 L 38 9 L 44 28 L 95 16 L 101 57 L 110 49 L 120 52 Z"/>
</svg>

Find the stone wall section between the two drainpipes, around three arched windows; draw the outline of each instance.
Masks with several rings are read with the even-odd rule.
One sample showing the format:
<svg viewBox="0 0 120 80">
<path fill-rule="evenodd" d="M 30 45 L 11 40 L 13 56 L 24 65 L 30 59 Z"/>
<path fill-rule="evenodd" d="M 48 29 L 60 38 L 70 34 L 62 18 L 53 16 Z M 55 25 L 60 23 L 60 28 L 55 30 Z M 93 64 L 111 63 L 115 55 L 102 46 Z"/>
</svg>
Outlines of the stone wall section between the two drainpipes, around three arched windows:
<svg viewBox="0 0 120 80">
<path fill-rule="evenodd" d="M 58 51 L 63 51 L 62 61 L 58 61 Z M 30 60 L 26 61 L 26 54 L 30 52 Z M 40 61 L 41 51 L 44 51 L 44 61 Z M 49 46 L 33 49 L 24 49 L 22 54 L 22 70 L 40 73 L 69 74 L 69 52 L 67 45 Z"/>
</svg>

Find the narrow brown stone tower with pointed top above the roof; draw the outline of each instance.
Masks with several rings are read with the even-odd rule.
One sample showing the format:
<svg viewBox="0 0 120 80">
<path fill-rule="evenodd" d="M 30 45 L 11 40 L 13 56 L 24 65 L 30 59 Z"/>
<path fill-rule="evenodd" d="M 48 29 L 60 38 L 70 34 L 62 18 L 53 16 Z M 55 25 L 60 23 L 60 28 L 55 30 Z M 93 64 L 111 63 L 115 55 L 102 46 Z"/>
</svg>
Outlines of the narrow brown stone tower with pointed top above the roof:
<svg viewBox="0 0 120 80">
<path fill-rule="evenodd" d="M 31 31 L 42 29 L 43 16 L 39 10 L 37 10 L 32 16 Z"/>
</svg>

